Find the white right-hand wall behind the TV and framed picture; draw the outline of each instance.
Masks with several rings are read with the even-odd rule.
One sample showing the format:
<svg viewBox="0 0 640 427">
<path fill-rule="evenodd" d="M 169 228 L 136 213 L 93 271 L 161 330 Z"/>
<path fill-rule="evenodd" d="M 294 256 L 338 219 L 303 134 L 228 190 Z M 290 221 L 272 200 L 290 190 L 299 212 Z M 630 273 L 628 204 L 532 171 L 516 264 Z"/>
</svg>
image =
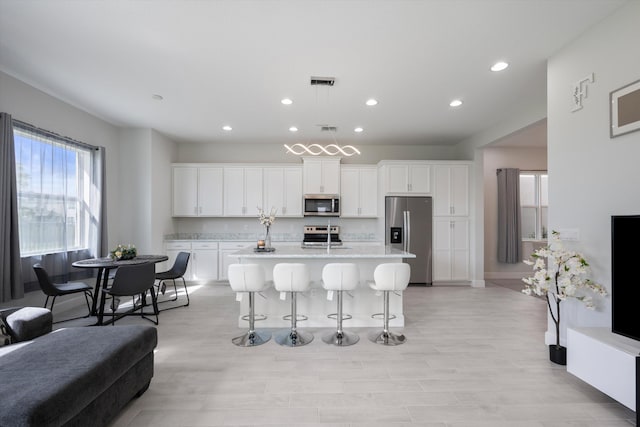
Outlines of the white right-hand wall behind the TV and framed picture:
<svg viewBox="0 0 640 427">
<path fill-rule="evenodd" d="M 639 23 L 640 2 L 629 2 L 548 63 L 549 227 L 579 230 L 570 247 L 585 254 L 593 278 L 608 289 L 611 215 L 640 214 L 640 132 L 609 138 L 609 93 L 640 78 Z M 571 112 L 572 83 L 590 73 L 584 108 Z M 610 298 L 597 311 L 564 308 L 566 325 L 611 325 Z"/>
</svg>

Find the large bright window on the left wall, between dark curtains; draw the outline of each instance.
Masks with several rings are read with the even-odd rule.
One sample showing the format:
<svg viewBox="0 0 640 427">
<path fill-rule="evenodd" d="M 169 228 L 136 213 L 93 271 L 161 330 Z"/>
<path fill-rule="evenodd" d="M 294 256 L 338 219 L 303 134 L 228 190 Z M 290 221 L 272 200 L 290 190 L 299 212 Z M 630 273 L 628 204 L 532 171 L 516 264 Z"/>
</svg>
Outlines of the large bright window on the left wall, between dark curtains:
<svg viewBox="0 0 640 427">
<path fill-rule="evenodd" d="M 89 247 L 95 150 L 14 123 L 21 255 Z"/>
</svg>

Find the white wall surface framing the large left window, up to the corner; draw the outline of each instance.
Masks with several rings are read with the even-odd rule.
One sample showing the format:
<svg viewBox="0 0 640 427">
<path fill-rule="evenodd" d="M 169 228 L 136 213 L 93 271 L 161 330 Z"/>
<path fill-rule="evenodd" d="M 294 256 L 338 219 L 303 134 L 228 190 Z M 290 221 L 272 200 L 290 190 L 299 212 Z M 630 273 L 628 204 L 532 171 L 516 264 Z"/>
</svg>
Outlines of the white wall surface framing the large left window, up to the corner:
<svg viewBox="0 0 640 427">
<path fill-rule="evenodd" d="M 106 148 L 108 242 L 110 246 L 117 244 L 120 236 L 117 222 L 120 205 L 118 127 L 2 72 L 0 111 L 39 128 Z"/>
</svg>

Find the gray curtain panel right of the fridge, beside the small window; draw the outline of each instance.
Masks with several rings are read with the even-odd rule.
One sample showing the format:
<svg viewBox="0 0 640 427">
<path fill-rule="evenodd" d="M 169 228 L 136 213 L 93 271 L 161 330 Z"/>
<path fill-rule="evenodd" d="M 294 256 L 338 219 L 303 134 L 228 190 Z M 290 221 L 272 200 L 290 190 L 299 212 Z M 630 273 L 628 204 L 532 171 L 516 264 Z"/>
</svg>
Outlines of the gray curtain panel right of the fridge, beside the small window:
<svg viewBox="0 0 640 427">
<path fill-rule="evenodd" d="M 522 262 L 520 169 L 498 169 L 498 262 Z"/>
</svg>

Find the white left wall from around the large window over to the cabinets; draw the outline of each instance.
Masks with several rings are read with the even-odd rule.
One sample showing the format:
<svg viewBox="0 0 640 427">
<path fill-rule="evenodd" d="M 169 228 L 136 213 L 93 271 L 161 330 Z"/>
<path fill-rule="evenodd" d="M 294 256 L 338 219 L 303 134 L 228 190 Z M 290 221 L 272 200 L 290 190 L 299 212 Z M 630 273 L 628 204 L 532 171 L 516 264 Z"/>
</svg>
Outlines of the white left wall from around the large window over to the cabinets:
<svg viewBox="0 0 640 427">
<path fill-rule="evenodd" d="M 176 144 L 150 129 L 121 129 L 0 72 L 0 111 L 14 119 L 106 147 L 110 248 L 133 243 L 162 253 L 171 233 L 171 163 Z"/>
</svg>

